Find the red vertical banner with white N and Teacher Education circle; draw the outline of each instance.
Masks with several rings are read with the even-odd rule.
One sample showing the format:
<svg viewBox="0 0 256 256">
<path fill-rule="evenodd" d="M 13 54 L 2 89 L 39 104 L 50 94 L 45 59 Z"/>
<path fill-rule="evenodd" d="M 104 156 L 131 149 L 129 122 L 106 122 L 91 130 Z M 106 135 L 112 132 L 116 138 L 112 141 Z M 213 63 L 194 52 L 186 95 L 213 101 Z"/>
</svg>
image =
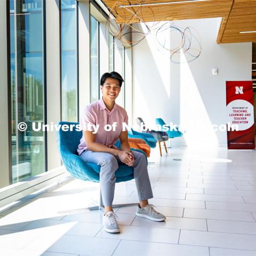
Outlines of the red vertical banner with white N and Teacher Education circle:
<svg viewBox="0 0 256 256">
<path fill-rule="evenodd" d="M 252 82 L 227 81 L 226 92 L 228 149 L 255 149 Z"/>
</svg>

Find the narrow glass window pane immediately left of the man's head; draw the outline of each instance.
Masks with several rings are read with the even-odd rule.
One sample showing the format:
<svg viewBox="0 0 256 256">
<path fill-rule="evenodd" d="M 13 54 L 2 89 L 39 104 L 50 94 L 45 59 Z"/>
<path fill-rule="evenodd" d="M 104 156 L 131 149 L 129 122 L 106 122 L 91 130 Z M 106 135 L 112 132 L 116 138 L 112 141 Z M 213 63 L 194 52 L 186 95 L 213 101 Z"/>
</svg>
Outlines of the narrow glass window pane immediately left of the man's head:
<svg viewBox="0 0 256 256">
<path fill-rule="evenodd" d="M 90 54 L 91 54 L 91 102 L 100 96 L 99 84 L 99 21 L 91 15 L 90 26 Z"/>
</svg>

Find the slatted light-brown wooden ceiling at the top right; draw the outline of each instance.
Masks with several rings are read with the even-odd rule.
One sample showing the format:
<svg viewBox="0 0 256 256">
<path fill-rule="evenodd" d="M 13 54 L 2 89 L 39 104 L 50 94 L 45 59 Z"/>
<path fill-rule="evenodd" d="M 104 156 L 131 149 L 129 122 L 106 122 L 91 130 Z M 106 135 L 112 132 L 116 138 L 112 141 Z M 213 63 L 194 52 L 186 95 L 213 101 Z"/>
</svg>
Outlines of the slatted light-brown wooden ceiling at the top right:
<svg viewBox="0 0 256 256">
<path fill-rule="evenodd" d="M 182 3 L 183 1 L 145 0 L 144 4 L 180 3 L 121 8 L 119 5 L 134 5 L 141 1 L 102 0 L 116 17 L 117 23 L 221 17 L 217 43 L 256 42 L 256 33 L 239 33 L 240 31 L 256 31 L 256 0 L 210 0 Z"/>
</svg>

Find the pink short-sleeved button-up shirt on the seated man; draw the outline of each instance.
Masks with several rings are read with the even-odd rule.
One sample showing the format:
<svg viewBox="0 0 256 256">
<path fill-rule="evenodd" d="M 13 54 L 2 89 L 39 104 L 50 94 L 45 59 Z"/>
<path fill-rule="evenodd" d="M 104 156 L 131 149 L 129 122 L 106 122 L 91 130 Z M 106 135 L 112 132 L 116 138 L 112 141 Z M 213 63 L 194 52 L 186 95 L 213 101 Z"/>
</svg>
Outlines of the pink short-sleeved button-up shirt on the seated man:
<svg viewBox="0 0 256 256">
<path fill-rule="evenodd" d="M 117 123 L 115 131 L 114 129 L 111 131 L 105 131 L 104 126 L 106 124 L 113 125 L 114 122 Z M 102 98 L 86 106 L 81 113 L 80 124 L 83 127 L 88 127 L 92 124 L 99 125 L 99 129 L 97 133 L 95 133 L 95 142 L 101 143 L 107 147 L 112 147 L 119 139 L 120 133 L 123 129 L 123 123 L 128 124 L 126 110 L 115 103 L 113 109 L 109 111 Z M 127 129 L 125 130 L 127 131 Z M 92 131 L 94 131 L 94 129 L 92 129 Z M 84 136 L 82 136 L 77 152 L 81 155 L 86 149 L 87 146 Z"/>
</svg>

